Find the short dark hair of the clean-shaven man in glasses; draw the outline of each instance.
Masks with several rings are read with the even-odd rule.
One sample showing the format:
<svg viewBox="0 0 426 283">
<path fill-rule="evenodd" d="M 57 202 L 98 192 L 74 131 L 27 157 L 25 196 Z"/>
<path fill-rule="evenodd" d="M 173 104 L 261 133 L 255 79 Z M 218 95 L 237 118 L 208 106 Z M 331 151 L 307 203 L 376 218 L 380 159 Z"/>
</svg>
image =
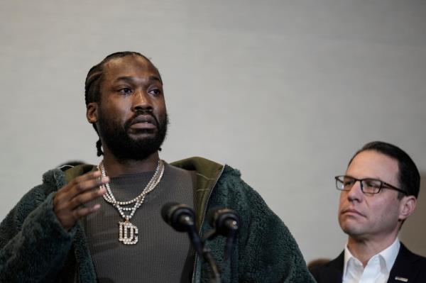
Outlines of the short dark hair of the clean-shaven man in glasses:
<svg viewBox="0 0 426 283">
<path fill-rule="evenodd" d="M 366 145 L 352 156 L 348 167 L 351 165 L 351 162 L 354 160 L 356 155 L 366 150 L 374 150 L 396 160 L 398 162 L 398 182 L 400 189 L 407 192 L 408 196 L 415 196 L 417 199 L 420 191 L 420 173 L 419 170 L 417 170 L 417 166 L 415 166 L 414 161 L 404 150 L 401 150 L 396 145 L 382 141 L 366 143 Z M 402 197 L 402 193 L 400 194 L 400 197 Z"/>
</svg>

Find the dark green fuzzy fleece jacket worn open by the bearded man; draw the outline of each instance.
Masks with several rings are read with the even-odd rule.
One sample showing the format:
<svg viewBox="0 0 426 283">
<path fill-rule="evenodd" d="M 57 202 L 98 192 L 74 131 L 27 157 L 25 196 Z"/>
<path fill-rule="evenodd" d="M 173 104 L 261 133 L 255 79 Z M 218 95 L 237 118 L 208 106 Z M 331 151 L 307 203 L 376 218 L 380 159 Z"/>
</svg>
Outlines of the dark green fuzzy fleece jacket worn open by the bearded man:
<svg viewBox="0 0 426 283">
<path fill-rule="evenodd" d="M 209 209 L 227 207 L 239 213 L 242 223 L 230 260 L 223 260 L 224 237 L 207 243 L 222 282 L 315 282 L 288 228 L 238 170 L 201 157 L 172 165 L 197 172 L 194 194 L 200 235 L 212 229 L 204 221 Z M 65 231 L 53 212 L 58 189 L 90 170 L 94 166 L 46 172 L 43 184 L 9 212 L 0 224 L 0 282 L 97 282 L 82 221 Z M 195 258 L 192 282 L 208 282 L 209 272 L 207 263 Z"/>
</svg>

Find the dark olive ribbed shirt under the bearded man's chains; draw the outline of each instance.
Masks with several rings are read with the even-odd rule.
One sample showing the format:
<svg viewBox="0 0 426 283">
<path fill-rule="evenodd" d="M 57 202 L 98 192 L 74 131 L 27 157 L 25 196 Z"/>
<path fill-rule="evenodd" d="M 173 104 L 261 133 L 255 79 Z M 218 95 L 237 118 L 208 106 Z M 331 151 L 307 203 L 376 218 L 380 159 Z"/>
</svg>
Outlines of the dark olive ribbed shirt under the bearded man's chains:
<svg viewBox="0 0 426 283">
<path fill-rule="evenodd" d="M 141 194 L 154 172 L 124 174 L 111 178 L 114 197 L 127 201 Z M 175 201 L 193 207 L 195 172 L 165 163 L 160 183 L 136 210 L 130 222 L 138 227 L 138 243 L 119 242 L 119 221 L 114 206 L 102 197 L 101 208 L 87 216 L 86 235 L 99 283 L 180 282 L 185 261 L 191 264 L 186 233 L 173 230 L 160 215 L 164 204 Z M 133 205 L 132 205 L 133 207 Z M 126 214 L 130 212 L 127 211 Z M 183 275 L 187 277 L 187 274 Z"/>
</svg>

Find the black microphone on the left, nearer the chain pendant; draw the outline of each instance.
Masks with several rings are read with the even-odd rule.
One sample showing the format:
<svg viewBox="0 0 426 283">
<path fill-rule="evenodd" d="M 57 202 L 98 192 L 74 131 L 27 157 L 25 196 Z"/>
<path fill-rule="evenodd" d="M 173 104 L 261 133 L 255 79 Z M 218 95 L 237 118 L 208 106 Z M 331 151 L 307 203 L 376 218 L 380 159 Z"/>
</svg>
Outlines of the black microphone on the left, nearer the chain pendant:
<svg viewBox="0 0 426 283">
<path fill-rule="evenodd" d="M 201 239 L 195 228 L 195 213 L 189 206 L 169 202 L 161 209 L 161 216 L 176 231 L 187 232 L 195 250 L 201 257 L 203 256 Z"/>
</svg>

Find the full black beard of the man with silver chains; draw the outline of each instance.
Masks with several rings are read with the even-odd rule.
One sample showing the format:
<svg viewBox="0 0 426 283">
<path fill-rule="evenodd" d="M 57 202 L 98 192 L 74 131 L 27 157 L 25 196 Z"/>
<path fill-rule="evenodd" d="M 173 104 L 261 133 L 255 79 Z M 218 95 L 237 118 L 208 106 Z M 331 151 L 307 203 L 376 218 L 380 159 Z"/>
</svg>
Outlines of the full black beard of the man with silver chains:
<svg viewBox="0 0 426 283">
<path fill-rule="evenodd" d="M 102 108 L 99 108 L 99 135 L 102 135 L 102 141 L 107 145 L 111 153 L 118 160 L 145 160 L 154 152 L 161 150 L 160 147 L 165 140 L 168 128 L 168 115 L 158 121 L 151 111 L 138 111 L 136 115 L 120 125 L 116 121 L 108 121 Z M 142 129 L 137 133 L 153 134 L 145 138 L 132 138 L 129 135 L 129 128 L 134 118 L 139 115 L 150 115 L 155 120 L 156 129 Z"/>
</svg>

